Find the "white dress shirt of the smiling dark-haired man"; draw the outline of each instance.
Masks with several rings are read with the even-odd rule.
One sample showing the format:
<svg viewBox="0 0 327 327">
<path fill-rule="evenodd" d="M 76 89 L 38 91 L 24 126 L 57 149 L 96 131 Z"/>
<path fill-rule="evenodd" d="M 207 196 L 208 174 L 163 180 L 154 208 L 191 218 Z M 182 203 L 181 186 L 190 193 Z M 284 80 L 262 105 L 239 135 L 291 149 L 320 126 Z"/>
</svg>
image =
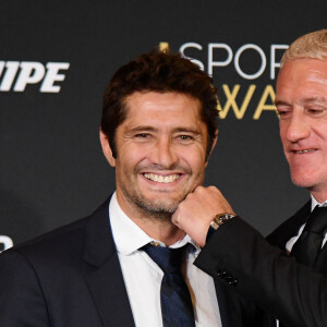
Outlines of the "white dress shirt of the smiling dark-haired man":
<svg viewBox="0 0 327 327">
<path fill-rule="evenodd" d="M 136 327 L 161 327 L 160 286 L 164 272 L 144 251 L 138 250 L 149 242 L 159 241 L 148 237 L 123 213 L 116 193 L 109 204 L 109 217 L 135 325 Z M 187 242 L 195 245 L 193 240 L 185 235 L 183 240 L 170 247 L 180 247 Z M 162 243 L 161 245 L 165 246 Z M 184 265 L 184 277 L 191 292 L 195 325 L 221 327 L 214 280 L 193 265 L 199 252 L 199 247 L 196 249 L 195 252 L 186 254 Z"/>
</svg>

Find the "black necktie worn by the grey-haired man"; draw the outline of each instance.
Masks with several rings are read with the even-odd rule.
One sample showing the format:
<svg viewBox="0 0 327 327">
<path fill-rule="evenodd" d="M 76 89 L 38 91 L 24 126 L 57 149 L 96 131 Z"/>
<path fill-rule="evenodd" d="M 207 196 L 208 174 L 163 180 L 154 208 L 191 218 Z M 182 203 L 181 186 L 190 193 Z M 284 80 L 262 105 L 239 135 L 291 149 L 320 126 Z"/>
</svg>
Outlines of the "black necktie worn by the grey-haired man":
<svg viewBox="0 0 327 327">
<path fill-rule="evenodd" d="M 327 207 L 316 206 L 308 216 L 302 234 L 292 247 L 291 255 L 296 262 L 306 266 L 314 266 L 322 249 L 324 232 L 327 228 Z"/>
</svg>

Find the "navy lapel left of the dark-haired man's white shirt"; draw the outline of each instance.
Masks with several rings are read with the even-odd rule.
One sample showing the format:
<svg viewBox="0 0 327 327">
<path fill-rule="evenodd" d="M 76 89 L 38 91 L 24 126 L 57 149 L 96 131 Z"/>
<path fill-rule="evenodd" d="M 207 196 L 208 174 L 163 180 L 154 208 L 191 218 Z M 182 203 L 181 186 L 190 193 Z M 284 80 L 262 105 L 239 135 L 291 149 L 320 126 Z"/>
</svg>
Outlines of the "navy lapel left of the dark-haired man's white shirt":
<svg viewBox="0 0 327 327">
<path fill-rule="evenodd" d="M 85 231 L 85 279 L 102 324 L 135 326 L 109 223 L 109 201 L 88 219 Z"/>
</svg>

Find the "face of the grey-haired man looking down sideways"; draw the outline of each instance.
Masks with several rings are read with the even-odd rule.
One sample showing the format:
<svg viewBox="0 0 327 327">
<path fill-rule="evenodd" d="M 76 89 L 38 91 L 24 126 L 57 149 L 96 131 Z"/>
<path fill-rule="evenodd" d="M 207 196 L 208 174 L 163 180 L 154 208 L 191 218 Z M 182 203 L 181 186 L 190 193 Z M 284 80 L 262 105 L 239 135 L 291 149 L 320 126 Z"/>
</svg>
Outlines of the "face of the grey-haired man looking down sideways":
<svg viewBox="0 0 327 327">
<path fill-rule="evenodd" d="M 294 184 L 327 191 L 327 61 L 296 59 L 276 87 L 280 137 Z"/>
</svg>

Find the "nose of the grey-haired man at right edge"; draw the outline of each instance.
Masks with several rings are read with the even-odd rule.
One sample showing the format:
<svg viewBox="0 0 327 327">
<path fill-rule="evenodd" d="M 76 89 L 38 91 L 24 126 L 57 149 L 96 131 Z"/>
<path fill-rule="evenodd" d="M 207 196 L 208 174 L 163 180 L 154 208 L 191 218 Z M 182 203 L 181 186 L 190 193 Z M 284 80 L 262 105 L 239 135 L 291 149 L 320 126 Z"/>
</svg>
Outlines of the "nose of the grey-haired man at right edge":
<svg viewBox="0 0 327 327">
<path fill-rule="evenodd" d="M 300 140 L 308 137 L 311 133 L 311 126 L 301 113 L 294 112 L 290 118 L 287 126 L 286 136 L 290 142 L 298 142 Z"/>
</svg>

